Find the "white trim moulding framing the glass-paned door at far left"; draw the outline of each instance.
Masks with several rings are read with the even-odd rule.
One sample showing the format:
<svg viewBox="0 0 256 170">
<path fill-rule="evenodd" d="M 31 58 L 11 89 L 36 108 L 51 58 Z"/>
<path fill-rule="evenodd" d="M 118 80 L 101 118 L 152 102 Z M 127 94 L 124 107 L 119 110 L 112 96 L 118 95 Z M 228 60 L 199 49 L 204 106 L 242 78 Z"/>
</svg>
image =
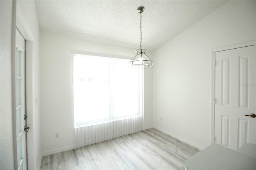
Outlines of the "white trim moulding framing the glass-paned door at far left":
<svg viewBox="0 0 256 170">
<path fill-rule="evenodd" d="M 30 143 L 28 144 L 30 146 L 30 151 L 27 151 L 27 159 L 29 159 L 29 161 L 27 162 L 27 168 L 28 169 L 36 169 L 35 165 L 35 156 L 34 156 L 34 130 L 33 130 L 33 125 L 34 125 L 34 49 L 35 49 L 35 43 L 34 43 L 34 34 L 32 33 L 32 31 L 30 30 L 30 27 L 28 25 L 28 23 L 26 22 L 26 18 L 24 16 L 24 14 L 22 13 L 22 10 L 19 6 L 19 2 L 18 1 L 13 1 L 14 6 L 13 6 L 13 29 L 16 30 L 16 28 L 18 28 L 18 30 L 20 31 L 20 33 L 22 34 L 22 36 L 24 37 L 24 39 L 26 40 L 26 88 L 30 89 L 29 91 L 26 90 L 26 110 L 27 110 L 27 115 L 30 117 L 29 121 L 27 121 L 28 125 L 30 125 L 30 127 L 32 128 L 30 130 L 30 136 L 27 136 L 27 142 Z M 14 28 L 15 27 L 15 28 Z M 13 33 L 13 37 L 14 40 L 16 38 L 16 34 Z M 14 41 L 15 42 L 15 41 Z M 14 47 L 15 47 L 15 43 L 14 43 Z M 14 52 L 14 56 L 15 57 L 15 52 Z M 14 59 L 14 64 L 15 64 L 15 59 Z M 12 71 L 14 71 L 15 73 L 15 67 L 12 68 Z M 28 72 L 30 73 L 28 75 Z M 29 79 L 27 79 L 29 78 Z M 15 81 L 14 81 L 15 82 Z M 15 84 L 15 83 L 14 83 Z M 15 86 L 14 86 L 15 88 Z M 15 91 L 14 91 L 15 92 Z M 12 91 L 13 93 L 13 91 Z M 14 93 L 15 95 L 15 93 Z M 15 99 L 15 98 L 14 98 Z M 14 101 L 12 101 L 12 103 L 14 103 Z M 13 113 L 13 115 L 15 115 L 15 112 Z M 16 119 L 13 120 L 13 125 L 15 125 L 16 123 Z M 16 128 L 14 128 L 13 132 L 16 133 Z M 15 145 L 15 144 L 14 144 Z M 15 146 L 16 147 L 16 146 Z M 16 150 L 17 148 L 14 148 L 14 150 Z M 14 151 L 15 157 L 17 157 L 17 153 L 16 151 Z M 17 162 L 17 159 L 15 160 L 15 162 Z M 37 162 L 36 162 L 37 163 Z M 17 168 L 16 168 L 17 169 Z"/>
</svg>

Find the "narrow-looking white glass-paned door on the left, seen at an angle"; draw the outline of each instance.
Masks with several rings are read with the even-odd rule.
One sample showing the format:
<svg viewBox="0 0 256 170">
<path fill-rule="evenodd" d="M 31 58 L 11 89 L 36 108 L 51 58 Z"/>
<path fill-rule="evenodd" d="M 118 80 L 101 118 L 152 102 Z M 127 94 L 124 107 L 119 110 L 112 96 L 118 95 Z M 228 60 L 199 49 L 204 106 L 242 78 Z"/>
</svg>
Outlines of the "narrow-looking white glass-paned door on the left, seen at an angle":
<svg viewBox="0 0 256 170">
<path fill-rule="evenodd" d="M 26 159 L 26 99 L 25 99 L 25 40 L 16 29 L 15 51 L 15 98 L 16 98 L 16 141 L 18 170 L 27 169 Z"/>
</svg>

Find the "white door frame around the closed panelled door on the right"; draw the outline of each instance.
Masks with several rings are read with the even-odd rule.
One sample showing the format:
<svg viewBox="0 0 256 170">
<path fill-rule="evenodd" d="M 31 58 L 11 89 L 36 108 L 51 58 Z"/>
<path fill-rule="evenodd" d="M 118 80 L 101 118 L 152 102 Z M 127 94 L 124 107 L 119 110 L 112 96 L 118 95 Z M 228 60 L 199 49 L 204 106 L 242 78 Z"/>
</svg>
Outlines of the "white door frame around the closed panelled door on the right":
<svg viewBox="0 0 256 170">
<path fill-rule="evenodd" d="M 256 45 L 256 40 L 251 42 L 239 43 L 239 44 L 212 49 L 212 89 L 211 89 L 212 95 L 211 95 L 211 117 L 210 117 L 210 122 L 211 122 L 210 144 L 213 144 L 215 141 L 214 128 L 215 128 L 215 65 L 216 65 L 215 55 L 216 55 L 216 52 L 248 47 L 252 45 Z"/>
</svg>

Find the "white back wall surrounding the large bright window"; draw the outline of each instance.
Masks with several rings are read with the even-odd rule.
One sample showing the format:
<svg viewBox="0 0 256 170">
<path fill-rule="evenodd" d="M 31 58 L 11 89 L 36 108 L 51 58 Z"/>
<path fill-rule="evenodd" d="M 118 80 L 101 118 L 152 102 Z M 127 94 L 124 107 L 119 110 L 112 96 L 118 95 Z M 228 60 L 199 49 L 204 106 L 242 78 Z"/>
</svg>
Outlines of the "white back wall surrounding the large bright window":
<svg viewBox="0 0 256 170">
<path fill-rule="evenodd" d="M 42 154 L 74 147 L 72 54 L 70 50 L 135 55 L 133 48 L 90 42 L 68 36 L 40 34 L 40 93 Z M 152 52 L 148 52 L 152 56 Z M 152 69 L 145 70 L 144 127 L 152 127 Z M 59 133 L 55 139 L 54 134 Z"/>
</svg>

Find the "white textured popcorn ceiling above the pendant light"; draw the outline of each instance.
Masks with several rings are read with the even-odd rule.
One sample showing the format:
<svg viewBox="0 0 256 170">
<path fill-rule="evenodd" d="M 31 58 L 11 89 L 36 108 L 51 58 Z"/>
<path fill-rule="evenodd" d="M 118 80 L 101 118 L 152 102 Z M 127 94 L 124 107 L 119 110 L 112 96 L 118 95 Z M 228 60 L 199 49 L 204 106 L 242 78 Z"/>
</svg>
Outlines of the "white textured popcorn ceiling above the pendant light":
<svg viewBox="0 0 256 170">
<path fill-rule="evenodd" d="M 221 0 L 36 0 L 40 29 L 153 51 L 210 14 Z"/>
</svg>

